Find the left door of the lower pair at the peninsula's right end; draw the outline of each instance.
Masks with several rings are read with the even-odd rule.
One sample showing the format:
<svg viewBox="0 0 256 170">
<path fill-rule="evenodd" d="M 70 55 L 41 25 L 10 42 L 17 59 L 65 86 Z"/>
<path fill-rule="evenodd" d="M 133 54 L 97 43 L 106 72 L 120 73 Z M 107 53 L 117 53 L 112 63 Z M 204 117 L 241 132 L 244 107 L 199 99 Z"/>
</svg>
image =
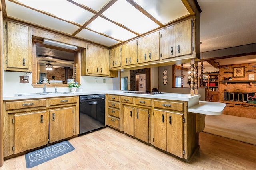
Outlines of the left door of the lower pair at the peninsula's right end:
<svg viewBox="0 0 256 170">
<path fill-rule="evenodd" d="M 154 109 L 154 146 L 166 150 L 166 111 Z"/>
</svg>

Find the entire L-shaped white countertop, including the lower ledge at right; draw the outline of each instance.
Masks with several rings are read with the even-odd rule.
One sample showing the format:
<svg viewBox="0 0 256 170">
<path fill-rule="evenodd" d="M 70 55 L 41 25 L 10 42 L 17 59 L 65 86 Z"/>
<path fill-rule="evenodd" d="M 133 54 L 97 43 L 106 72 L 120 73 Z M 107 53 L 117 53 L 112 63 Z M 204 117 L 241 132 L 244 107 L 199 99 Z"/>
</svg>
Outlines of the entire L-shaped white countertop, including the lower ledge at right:
<svg viewBox="0 0 256 170">
<path fill-rule="evenodd" d="M 84 92 L 72 92 L 67 94 L 45 94 L 45 95 L 29 95 L 29 96 L 8 96 L 3 97 L 4 101 L 11 100 L 30 100 L 39 98 L 54 98 L 54 97 L 69 97 L 69 96 L 81 96 L 81 95 L 93 95 L 93 94 L 114 94 L 122 96 L 134 96 L 141 98 L 155 98 L 166 100 L 178 100 L 188 102 L 188 112 L 200 113 L 206 115 L 221 115 L 226 104 L 220 102 L 205 102 L 199 101 L 200 95 L 191 96 L 190 94 L 179 93 L 162 93 L 162 94 L 135 94 L 128 93 L 132 91 L 122 90 L 90 90 Z"/>
</svg>

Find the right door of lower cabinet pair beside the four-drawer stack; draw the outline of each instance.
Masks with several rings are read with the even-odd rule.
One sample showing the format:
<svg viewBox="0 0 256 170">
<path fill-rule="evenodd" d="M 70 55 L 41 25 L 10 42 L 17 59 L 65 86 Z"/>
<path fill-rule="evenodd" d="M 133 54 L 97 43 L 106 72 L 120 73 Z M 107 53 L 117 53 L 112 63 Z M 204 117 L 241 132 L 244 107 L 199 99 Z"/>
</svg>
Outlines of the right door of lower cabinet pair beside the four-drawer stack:
<svg viewBox="0 0 256 170">
<path fill-rule="evenodd" d="M 135 109 L 134 136 L 148 142 L 148 110 Z"/>
</svg>

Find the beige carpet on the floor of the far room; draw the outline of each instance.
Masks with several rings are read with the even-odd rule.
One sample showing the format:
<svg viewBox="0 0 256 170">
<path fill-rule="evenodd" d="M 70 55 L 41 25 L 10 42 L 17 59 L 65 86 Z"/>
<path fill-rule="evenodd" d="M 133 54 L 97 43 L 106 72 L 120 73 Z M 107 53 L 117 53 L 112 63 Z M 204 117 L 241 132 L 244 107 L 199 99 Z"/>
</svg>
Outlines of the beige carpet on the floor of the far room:
<svg viewBox="0 0 256 170">
<path fill-rule="evenodd" d="M 204 132 L 256 145 L 256 119 L 207 115 Z"/>
</svg>

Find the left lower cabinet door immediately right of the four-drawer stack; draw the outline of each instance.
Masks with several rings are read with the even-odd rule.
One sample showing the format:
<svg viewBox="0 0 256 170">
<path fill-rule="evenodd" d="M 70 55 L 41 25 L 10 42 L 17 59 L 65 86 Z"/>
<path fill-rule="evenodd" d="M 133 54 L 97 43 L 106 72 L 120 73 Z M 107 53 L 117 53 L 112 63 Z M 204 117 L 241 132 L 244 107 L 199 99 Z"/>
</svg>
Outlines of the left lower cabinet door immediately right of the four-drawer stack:
<svg viewBox="0 0 256 170">
<path fill-rule="evenodd" d="M 134 108 L 124 106 L 124 133 L 134 136 Z"/>
</svg>

